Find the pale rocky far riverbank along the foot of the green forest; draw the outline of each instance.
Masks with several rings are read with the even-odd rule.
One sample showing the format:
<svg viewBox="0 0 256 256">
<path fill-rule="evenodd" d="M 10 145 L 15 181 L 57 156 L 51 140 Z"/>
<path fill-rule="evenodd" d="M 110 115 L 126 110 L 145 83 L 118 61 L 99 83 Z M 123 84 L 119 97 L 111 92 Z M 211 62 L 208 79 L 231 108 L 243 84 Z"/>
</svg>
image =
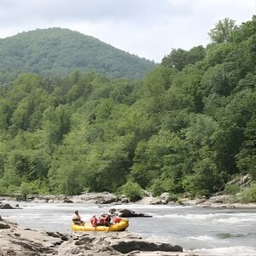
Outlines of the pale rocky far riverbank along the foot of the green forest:
<svg viewBox="0 0 256 256">
<path fill-rule="evenodd" d="M 236 177 L 229 184 L 236 184 L 242 189 L 246 189 L 252 183 L 252 178 L 249 175 Z M 224 191 L 220 191 L 210 198 L 201 197 L 191 200 L 189 195 L 182 198 L 172 198 L 169 193 L 163 193 L 160 196 L 154 197 L 146 190 L 143 190 L 143 199 L 132 202 L 139 205 L 166 205 L 180 204 L 184 206 L 193 205 L 200 207 L 223 207 L 223 208 L 256 208 L 256 203 L 242 203 L 239 200 L 241 192 L 237 195 L 226 195 Z M 22 200 L 19 196 L 13 200 Z M 3 199 L 2 199 L 3 201 Z M 82 195 L 27 195 L 26 201 L 45 202 L 45 203 L 95 203 L 95 204 L 115 204 L 125 205 L 131 203 L 125 195 L 114 195 L 109 192 L 102 193 L 84 193 Z M 1 198 L 0 198 L 0 208 Z"/>
</svg>

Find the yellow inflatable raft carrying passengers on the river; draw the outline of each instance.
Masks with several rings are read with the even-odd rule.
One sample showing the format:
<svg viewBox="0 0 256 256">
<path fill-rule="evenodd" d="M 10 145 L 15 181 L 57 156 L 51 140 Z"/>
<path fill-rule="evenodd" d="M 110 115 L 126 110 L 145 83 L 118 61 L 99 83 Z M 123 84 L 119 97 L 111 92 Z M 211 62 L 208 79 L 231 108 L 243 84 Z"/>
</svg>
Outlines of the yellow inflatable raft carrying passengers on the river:
<svg viewBox="0 0 256 256">
<path fill-rule="evenodd" d="M 85 223 L 84 226 L 73 224 L 71 229 L 73 231 L 125 231 L 129 226 L 129 219 L 122 218 L 117 224 L 111 224 L 109 227 L 106 226 L 96 226 L 93 227 L 89 223 Z"/>
</svg>

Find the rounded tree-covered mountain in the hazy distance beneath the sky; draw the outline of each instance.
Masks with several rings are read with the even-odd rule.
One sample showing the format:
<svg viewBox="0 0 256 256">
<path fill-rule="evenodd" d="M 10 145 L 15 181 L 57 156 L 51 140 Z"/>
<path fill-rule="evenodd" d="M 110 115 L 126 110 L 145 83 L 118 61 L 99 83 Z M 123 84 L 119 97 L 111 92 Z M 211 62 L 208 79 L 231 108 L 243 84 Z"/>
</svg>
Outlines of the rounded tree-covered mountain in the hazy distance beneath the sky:
<svg viewBox="0 0 256 256">
<path fill-rule="evenodd" d="M 37 29 L 0 39 L 0 60 L 0 82 L 20 72 L 60 77 L 74 70 L 138 79 L 155 67 L 153 61 L 61 28 Z"/>
</svg>

